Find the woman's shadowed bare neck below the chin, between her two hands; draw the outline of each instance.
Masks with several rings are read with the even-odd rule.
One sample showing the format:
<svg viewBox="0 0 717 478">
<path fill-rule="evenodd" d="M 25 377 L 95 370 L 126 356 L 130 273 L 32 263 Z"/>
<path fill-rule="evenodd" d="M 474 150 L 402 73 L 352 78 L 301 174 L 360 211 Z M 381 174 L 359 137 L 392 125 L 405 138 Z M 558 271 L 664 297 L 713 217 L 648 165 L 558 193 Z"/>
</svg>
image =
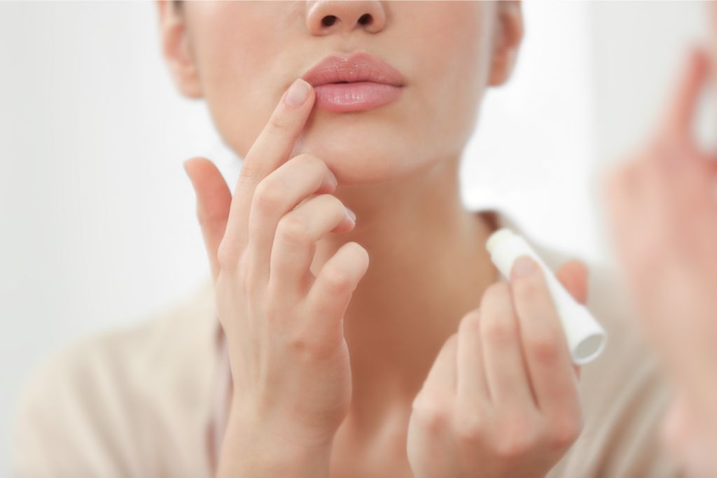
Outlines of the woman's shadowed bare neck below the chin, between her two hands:
<svg viewBox="0 0 717 478">
<path fill-rule="evenodd" d="M 442 344 L 498 277 L 485 251 L 495 224 L 463 209 L 458 168 L 453 158 L 397 181 L 339 186 L 356 227 L 317 244 L 314 274 L 348 241 L 369 252 L 344 316 L 353 380 L 347 421 L 367 433 L 391 410 L 406 409 Z"/>
</svg>

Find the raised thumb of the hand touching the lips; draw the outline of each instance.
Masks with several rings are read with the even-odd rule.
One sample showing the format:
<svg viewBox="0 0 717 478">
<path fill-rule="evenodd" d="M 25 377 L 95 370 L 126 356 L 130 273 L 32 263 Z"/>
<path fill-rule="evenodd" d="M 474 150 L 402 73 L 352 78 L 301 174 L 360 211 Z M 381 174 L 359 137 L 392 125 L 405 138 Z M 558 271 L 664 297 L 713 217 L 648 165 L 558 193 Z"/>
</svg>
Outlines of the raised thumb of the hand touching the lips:
<svg viewBox="0 0 717 478">
<path fill-rule="evenodd" d="M 217 251 L 227 228 L 232 193 L 212 161 L 206 158 L 191 158 L 182 165 L 196 193 L 196 217 L 212 267 L 212 278 L 216 282 L 219 275 Z"/>
</svg>

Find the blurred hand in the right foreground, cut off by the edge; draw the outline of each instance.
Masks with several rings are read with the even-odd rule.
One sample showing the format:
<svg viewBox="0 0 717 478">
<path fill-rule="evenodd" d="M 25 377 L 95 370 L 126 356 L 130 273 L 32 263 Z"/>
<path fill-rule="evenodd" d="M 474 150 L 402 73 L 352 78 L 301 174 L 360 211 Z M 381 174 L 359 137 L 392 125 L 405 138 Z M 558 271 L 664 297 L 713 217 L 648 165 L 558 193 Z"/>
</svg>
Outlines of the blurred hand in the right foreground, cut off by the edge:
<svg viewBox="0 0 717 478">
<path fill-rule="evenodd" d="M 605 191 L 641 325 L 677 389 L 665 441 L 690 477 L 717 474 L 717 158 L 692 129 L 709 63 L 706 52 L 690 55 L 657 134 L 611 171 Z"/>
</svg>

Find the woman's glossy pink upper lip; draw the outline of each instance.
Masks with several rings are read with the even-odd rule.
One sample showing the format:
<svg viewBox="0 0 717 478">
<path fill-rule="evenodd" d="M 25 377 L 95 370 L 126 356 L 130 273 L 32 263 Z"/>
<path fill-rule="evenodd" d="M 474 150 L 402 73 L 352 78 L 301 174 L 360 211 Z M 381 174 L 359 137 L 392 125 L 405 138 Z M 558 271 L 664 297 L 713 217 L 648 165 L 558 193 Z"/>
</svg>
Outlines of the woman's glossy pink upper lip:
<svg viewBox="0 0 717 478">
<path fill-rule="evenodd" d="M 403 86 L 403 77 L 390 64 L 368 53 L 351 57 L 331 56 L 322 59 L 302 76 L 313 87 L 337 82 L 369 81 Z"/>
</svg>

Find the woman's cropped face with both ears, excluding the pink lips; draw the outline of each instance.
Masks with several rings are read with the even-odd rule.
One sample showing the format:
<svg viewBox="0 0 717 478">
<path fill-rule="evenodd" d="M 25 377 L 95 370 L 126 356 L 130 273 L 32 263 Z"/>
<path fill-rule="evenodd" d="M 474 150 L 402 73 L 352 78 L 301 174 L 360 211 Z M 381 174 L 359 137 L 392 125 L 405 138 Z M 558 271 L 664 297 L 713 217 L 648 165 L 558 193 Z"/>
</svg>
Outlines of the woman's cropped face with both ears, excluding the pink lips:
<svg viewBox="0 0 717 478">
<path fill-rule="evenodd" d="M 282 93 L 323 58 L 366 52 L 398 70 L 398 100 L 344 113 L 314 107 L 296 143 L 292 156 L 318 156 L 345 184 L 398 178 L 460 155 L 485 87 L 508 77 L 522 36 L 512 2 L 192 1 L 176 10 L 160 3 L 164 52 L 180 89 L 204 97 L 242 157 Z"/>
</svg>

